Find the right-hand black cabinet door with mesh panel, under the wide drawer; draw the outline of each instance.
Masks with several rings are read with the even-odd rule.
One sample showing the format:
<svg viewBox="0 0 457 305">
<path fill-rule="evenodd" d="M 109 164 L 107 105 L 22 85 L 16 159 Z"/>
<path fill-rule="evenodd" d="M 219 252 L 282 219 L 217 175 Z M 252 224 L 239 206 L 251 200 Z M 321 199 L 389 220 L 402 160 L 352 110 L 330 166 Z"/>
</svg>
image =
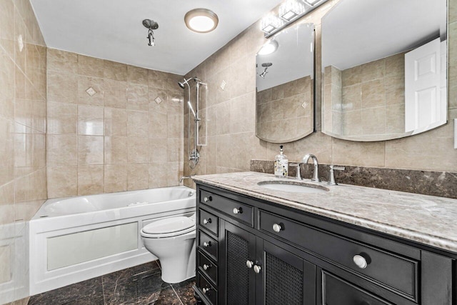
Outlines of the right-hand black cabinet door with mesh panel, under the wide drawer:
<svg viewBox="0 0 457 305">
<path fill-rule="evenodd" d="M 256 304 L 316 304 L 316 266 L 295 254 L 257 239 Z"/>
</svg>

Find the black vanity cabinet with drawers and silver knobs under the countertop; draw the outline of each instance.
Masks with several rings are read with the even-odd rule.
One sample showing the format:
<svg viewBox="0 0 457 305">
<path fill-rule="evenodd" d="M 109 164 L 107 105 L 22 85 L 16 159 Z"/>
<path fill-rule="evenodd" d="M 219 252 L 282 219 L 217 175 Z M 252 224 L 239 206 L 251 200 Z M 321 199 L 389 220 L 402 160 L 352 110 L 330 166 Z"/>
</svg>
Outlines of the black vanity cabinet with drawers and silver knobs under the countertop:
<svg viewBox="0 0 457 305">
<path fill-rule="evenodd" d="M 455 257 L 197 184 L 204 304 L 454 304 Z"/>
</svg>

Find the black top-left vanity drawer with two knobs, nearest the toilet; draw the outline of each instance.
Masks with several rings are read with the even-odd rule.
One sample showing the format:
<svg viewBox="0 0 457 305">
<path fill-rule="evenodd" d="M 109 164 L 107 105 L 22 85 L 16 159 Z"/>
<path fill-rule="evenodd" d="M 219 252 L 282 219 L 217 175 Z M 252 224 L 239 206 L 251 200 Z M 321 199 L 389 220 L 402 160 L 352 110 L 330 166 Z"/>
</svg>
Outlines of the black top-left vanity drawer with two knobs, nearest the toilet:
<svg viewBox="0 0 457 305">
<path fill-rule="evenodd" d="M 211 206 L 238 221 L 253 225 L 253 208 L 247 204 L 218 196 L 209 191 L 200 190 L 200 203 Z"/>
</svg>

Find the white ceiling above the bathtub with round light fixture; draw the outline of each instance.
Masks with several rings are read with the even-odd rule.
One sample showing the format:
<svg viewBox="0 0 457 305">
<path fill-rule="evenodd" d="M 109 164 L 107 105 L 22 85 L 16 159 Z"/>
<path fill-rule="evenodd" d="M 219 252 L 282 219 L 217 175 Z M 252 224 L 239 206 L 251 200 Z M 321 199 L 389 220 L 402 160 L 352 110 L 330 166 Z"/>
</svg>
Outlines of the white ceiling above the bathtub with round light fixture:
<svg viewBox="0 0 457 305">
<path fill-rule="evenodd" d="M 46 46 L 124 64 L 184 75 L 280 0 L 31 0 Z M 216 30 L 190 31 L 184 15 L 211 9 Z M 156 46 L 147 45 L 143 19 L 159 23 Z M 260 30 L 259 30 L 260 31 Z"/>
</svg>

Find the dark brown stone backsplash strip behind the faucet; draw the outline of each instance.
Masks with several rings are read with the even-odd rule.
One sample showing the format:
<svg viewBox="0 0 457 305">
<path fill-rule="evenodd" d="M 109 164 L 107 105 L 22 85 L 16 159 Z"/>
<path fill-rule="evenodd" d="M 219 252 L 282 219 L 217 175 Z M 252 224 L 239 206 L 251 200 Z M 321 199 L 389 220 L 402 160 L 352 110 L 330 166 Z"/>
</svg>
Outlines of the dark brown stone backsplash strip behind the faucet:
<svg viewBox="0 0 457 305">
<path fill-rule="evenodd" d="M 273 164 L 274 162 L 270 160 L 253 159 L 251 160 L 251 171 L 273 174 Z M 319 178 L 323 181 L 328 181 L 328 173 L 330 172 L 328 165 L 330 164 L 319 164 Z M 301 164 L 300 167 L 303 179 L 311 179 L 313 164 Z M 346 168 L 344 171 L 335 171 L 337 183 L 457 199 L 457 173 L 450 171 L 415 171 L 362 166 L 344 167 Z M 290 167 L 288 174 L 295 176 L 296 169 Z"/>
</svg>

